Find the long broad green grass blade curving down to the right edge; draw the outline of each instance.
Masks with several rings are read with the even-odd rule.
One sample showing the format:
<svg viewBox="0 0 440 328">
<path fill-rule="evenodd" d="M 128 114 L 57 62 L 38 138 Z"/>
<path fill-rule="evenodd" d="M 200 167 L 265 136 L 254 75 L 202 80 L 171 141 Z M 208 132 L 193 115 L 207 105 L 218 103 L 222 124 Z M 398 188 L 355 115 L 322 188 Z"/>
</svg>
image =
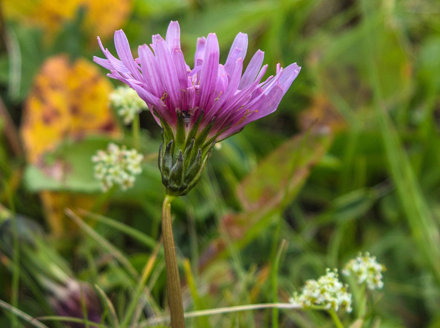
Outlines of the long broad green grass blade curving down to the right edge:
<svg viewBox="0 0 440 328">
<path fill-rule="evenodd" d="M 411 168 L 411 163 L 403 149 L 388 113 L 383 105 L 381 84 L 377 65 L 374 61 L 374 36 L 370 32 L 373 17 L 372 8 L 367 0 L 362 1 L 364 11 L 365 54 L 370 64 L 368 73 L 373 90 L 374 108 L 381 130 L 385 152 L 389 162 L 389 170 L 396 184 L 403 211 L 407 218 L 414 240 L 418 244 L 422 256 L 431 267 L 438 283 L 440 283 L 440 231 L 433 214 L 422 194 L 422 190 Z"/>
</svg>

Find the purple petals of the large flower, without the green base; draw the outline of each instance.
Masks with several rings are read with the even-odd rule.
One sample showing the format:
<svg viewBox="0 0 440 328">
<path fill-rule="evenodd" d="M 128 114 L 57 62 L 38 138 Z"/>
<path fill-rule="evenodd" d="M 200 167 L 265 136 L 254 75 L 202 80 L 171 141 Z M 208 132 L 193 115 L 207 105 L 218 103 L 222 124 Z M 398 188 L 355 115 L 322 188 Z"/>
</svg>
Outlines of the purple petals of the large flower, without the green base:
<svg viewBox="0 0 440 328">
<path fill-rule="evenodd" d="M 220 50 L 215 33 L 197 40 L 194 68 L 183 58 L 180 48 L 180 27 L 171 22 L 165 40 L 153 36 L 153 44 L 139 46 L 139 58 L 134 59 L 127 37 L 122 30 L 114 34 L 115 58 L 101 41 L 99 45 L 107 59 L 94 57 L 94 61 L 110 70 L 108 76 L 118 79 L 134 90 L 154 108 L 170 126 L 176 129 L 176 108 L 183 113 L 186 130 L 204 117 L 199 130 L 214 118 L 216 121 L 209 137 L 219 134 L 217 141 L 240 131 L 246 124 L 276 110 L 282 96 L 300 72 L 297 64 L 286 68 L 277 66 L 276 75 L 264 82 L 261 79 L 267 65 L 263 64 L 264 52 L 258 50 L 244 74 L 243 60 L 246 56 L 248 38 L 238 33 L 224 65 L 219 64 Z M 159 119 L 157 118 L 158 123 Z"/>
</svg>

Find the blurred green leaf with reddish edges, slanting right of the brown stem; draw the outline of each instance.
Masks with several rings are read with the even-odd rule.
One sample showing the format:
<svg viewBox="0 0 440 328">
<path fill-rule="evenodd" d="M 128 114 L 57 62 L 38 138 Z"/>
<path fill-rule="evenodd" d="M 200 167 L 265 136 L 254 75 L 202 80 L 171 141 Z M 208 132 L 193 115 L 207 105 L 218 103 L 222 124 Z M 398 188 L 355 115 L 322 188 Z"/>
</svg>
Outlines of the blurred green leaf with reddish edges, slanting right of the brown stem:
<svg viewBox="0 0 440 328">
<path fill-rule="evenodd" d="M 237 194 L 244 211 L 228 213 L 222 218 L 228 239 L 235 246 L 247 245 L 271 224 L 275 214 L 293 201 L 332 140 L 328 134 L 293 137 L 276 148 L 239 184 Z M 224 238 L 212 241 L 201 256 L 201 266 L 224 254 L 227 242 Z"/>
</svg>

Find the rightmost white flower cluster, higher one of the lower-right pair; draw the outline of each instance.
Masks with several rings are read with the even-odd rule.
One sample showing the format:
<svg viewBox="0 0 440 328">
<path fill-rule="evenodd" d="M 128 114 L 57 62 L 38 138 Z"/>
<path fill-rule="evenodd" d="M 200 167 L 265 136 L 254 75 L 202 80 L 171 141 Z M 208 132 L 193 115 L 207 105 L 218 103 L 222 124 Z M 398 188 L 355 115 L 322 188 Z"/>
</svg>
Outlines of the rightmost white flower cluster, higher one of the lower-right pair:
<svg viewBox="0 0 440 328">
<path fill-rule="evenodd" d="M 358 284 L 367 284 L 370 290 L 381 289 L 384 285 L 382 281 L 382 272 L 385 266 L 376 261 L 376 256 L 370 256 L 370 253 L 359 253 L 356 259 L 348 261 L 342 273 L 346 276 L 354 274 Z"/>
</svg>

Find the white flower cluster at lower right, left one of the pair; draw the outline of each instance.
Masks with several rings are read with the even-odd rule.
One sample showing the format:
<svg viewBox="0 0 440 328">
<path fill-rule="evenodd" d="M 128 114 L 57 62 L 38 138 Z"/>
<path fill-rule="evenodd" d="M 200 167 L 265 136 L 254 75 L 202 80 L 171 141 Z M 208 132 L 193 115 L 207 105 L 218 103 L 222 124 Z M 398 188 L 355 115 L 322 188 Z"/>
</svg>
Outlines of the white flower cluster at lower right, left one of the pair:
<svg viewBox="0 0 440 328">
<path fill-rule="evenodd" d="M 352 311 L 352 294 L 347 292 L 347 285 L 344 285 L 337 278 L 337 270 L 326 270 L 326 274 L 306 281 L 301 294 L 295 294 L 290 299 L 292 303 L 298 303 L 302 307 L 323 306 L 325 310 L 337 311 L 344 307 L 347 312 Z"/>
</svg>

